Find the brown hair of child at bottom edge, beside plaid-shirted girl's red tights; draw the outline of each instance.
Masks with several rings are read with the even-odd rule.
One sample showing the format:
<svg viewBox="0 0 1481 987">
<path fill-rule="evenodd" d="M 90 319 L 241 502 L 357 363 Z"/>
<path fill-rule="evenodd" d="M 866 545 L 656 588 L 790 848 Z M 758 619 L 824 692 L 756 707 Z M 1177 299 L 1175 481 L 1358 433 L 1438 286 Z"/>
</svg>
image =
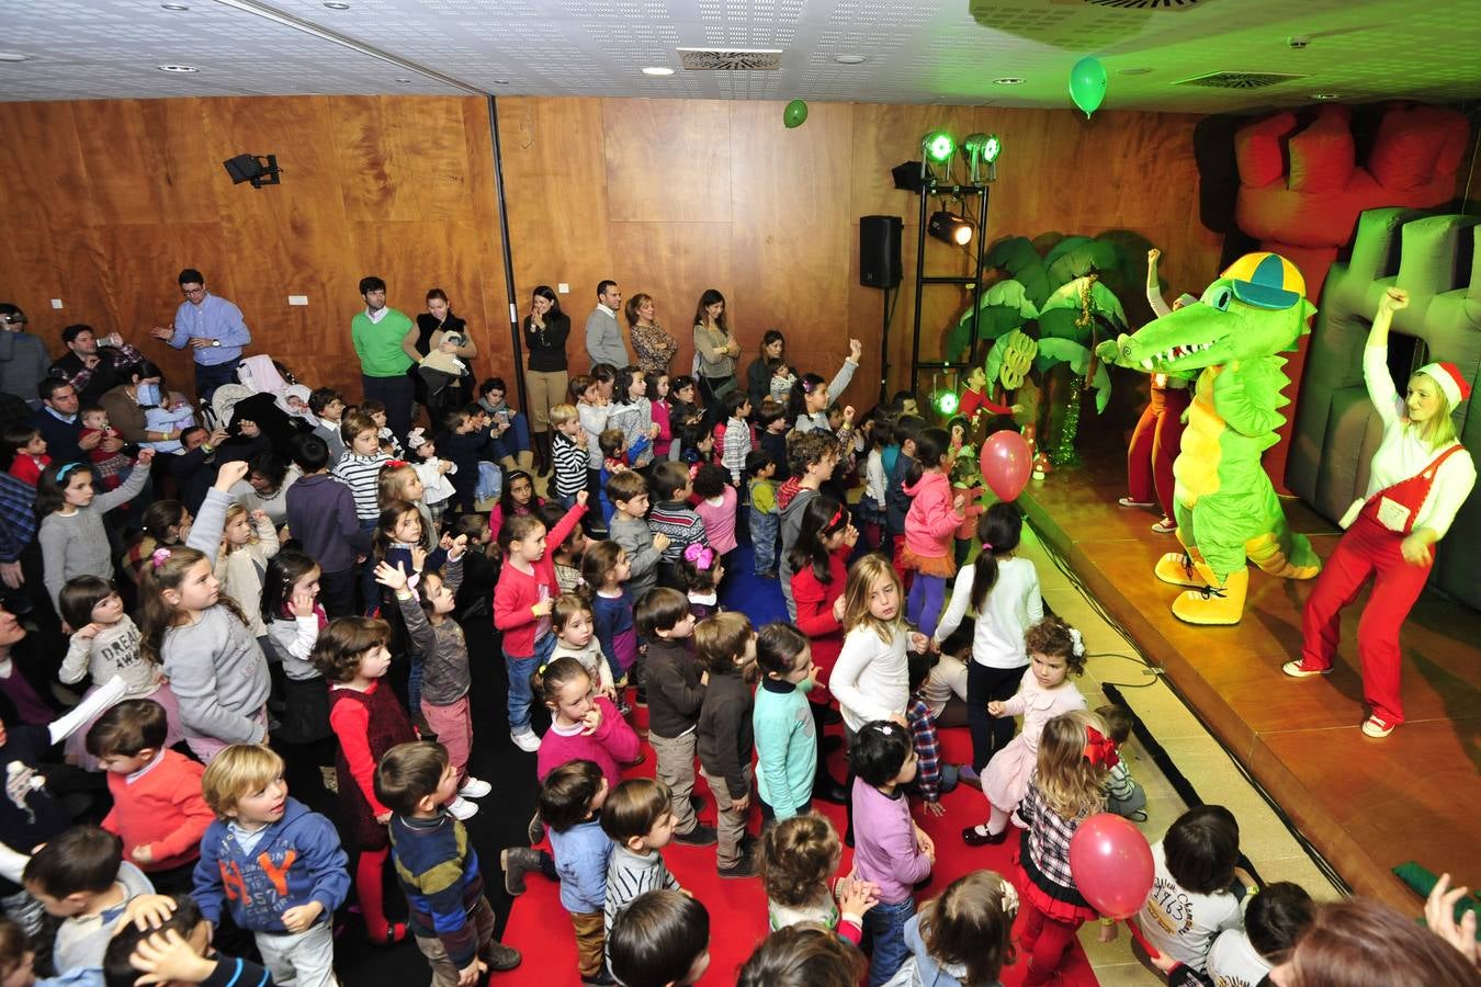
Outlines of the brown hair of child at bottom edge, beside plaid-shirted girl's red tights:
<svg viewBox="0 0 1481 987">
<path fill-rule="evenodd" d="M 940 966 L 966 968 L 963 987 L 991 987 L 1014 960 L 1009 934 L 1017 904 L 1017 889 L 991 870 L 958 877 L 921 909 L 926 951 Z"/>
</svg>

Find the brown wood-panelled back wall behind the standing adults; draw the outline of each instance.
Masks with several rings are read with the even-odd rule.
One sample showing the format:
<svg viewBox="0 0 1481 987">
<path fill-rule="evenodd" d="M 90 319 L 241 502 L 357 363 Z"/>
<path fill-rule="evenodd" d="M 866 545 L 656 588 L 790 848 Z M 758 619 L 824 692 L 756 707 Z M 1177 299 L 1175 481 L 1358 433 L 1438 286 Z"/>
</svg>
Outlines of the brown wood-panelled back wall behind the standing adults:
<svg viewBox="0 0 1481 987">
<path fill-rule="evenodd" d="M 695 300 L 717 287 L 754 358 L 761 333 L 788 333 L 794 361 L 831 374 L 847 339 L 865 361 L 847 400 L 868 407 L 886 346 L 883 293 L 857 284 L 857 219 L 906 220 L 906 286 L 893 297 L 892 388 L 911 349 L 917 200 L 890 169 L 918 160 L 920 138 L 995 132 L 1004 151 L 986 237 L 1118 231 L 1157 243 L 1173 294 L 1213 275 L 1217 238 L 1197 219 L 1191 115 L 1065 110 L 816 104 L 788 130 L 775 102 L 505 98 L 499 101 L 515 303 L 536 284 L 570 286 L 579 329 L 598 280 L 649 292 L 689 364 Z M 59 351 L 56 331 L 89 321 L 120 330 L 172 374 L 188 360 L 145 339 L 201 268 L 234 299 L 258 352 L 312 382 L 358 394 L 348 321 L 355 284 L 379 274 L 415 314 L 444 289 L 486 355 L 480 374 L 511 376 L 487 104 L 441 98 L 241 98 L 0 104 L 12 154 L 0 194 L 13 234 L 0 243 L 0 297 L 13 299 Z M 283 185 L 233 186 L 221 161 L 275 152 Z M 927 241 L 932 274 L 967 272 Z M 308 294 L 307 308 L 289 294 Z M 62 297 L 53 312 L 47 300 Z M 923 352 L 964 305 L 930 289 Z M 1137 305 L 1131 305 L 1133 318 Z M 579 339 L 572 366 L 582 368 Z"/>
</svg>

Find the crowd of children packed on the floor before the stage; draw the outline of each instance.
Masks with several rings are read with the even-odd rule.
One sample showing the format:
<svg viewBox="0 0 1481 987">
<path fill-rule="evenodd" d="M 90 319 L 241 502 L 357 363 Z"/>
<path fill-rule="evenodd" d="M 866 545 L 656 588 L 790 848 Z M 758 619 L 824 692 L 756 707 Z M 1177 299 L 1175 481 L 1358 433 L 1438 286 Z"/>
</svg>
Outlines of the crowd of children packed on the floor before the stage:
<svg viewBox="0 0 1481 987">
<path fill-rule="evenodd" d="M 185 476 L 127 546 L 105 515 L 145 491 L 154 450 L 52 462 L 34 429 L 6 432 L 71 636 L 55 675 L 89 688 L 55 719 L 19 676 L 0 685 L 3 983 L 34 966 L 77 984 L 335 984 L 351 898 L 366 938 L 410 935 L 438 987 L 518 966 L 464 827 L 493 792 L 468 771 L 486 722 L 475 617 L 498 632 L 511 743 L 535 755 L 530 845 L 501 854 L 504 885 L 558 882 L 584 984 L 705 974 L 709 914 L 665 866 L 671 842 L 715 846 L 720 877 L 766 891 L 770 934 L 740 984 L 986 986 L 1014 956 L 1023 983 L 1056 978 L 1100 919 L 1071 838 L 1102 811 L 1145 818 L 1117 752 L 1131 718 L 1087 709 L 1084 641 L 1046 616 L 1019 511 L 983 509 L 972 423 L 932 428 L 903 394 L 859 417 L 834 405 L 859 354 L 828 383 L 769 334 L 757 386 L 708 407 L 690 377 L 598 364 L 551 407 L 539 469 L 502 380 L 404 437 L 384 407 L 312 391 L 275 465 L 206 444 L 191 469 L 215 476 Z M 216 438 L 200 432 L 191 453 Z M 788 620 L 721 607 L 739 565 L 779 580 Z M 840 722 L 843 781 L 825 759 Z M 972 762 L 949 764 L 942 731 L 963 725 Z M 68 737 L 71 769 L 105 772 L 98 826 L 41 774 Z M 655 777 L 624 777 L 647 758 Z M 338 821 L 289 796 L 305 774 Z M 969 846 L 1020 833 L 1016 882 L 933 875 L 912 806 L 939 815 L 958 786 L 985 796 Z M 847 808 L 841 836 L 818 802 Z M 1254 895 L 1237 860 L 1219 806 L 1154 846 L 1136 949 L 1173 983 L 1259 983 L 1314 922 L 1300 888 Z"/>
</svg>

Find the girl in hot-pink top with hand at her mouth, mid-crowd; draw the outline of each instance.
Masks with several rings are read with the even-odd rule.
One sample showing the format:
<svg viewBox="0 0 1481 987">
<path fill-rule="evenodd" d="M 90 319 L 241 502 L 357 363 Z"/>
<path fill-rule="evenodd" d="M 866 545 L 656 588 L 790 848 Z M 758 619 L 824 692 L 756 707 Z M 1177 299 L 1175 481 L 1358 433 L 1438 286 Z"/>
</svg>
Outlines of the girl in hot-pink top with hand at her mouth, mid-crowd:
<svg viewBox="0 0 1481 987">
<path fill-rule="evenodd" d="M 622 783 L 622 765 L 637 759 L 638 735 L 606 695 L 592 690 L 591 673 L 578 658 L 555 658 L 535 672 L 532 685 L 551 710 L 551 728 L 535 759 L 545 780 L 572 761 L 594 761 L 610 787 Z"/>
</svg>

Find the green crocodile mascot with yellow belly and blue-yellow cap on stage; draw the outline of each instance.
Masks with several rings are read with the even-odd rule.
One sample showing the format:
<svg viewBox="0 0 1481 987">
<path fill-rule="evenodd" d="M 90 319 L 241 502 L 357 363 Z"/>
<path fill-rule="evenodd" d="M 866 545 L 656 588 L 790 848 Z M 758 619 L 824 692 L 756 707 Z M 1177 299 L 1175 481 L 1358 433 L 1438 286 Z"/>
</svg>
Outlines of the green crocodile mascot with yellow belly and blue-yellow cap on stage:
<svg viewBox="0 0 1481 987">
<path fill-rule="evenodd" d="M 1315 308 L 1300 271 L 1274 253 L 1235 260 L 1203 297 L 1154 320 L 1131 336 L 1105 342 L 1097 355 L 1151 373 L 1201 370 L 1173 463 L 1177 540 L 1157 577 L 1191 589 L 1173 614 L 1194 624 L 1234 624 L 1250 586 L 1246 559 L 1271 576 L 1312 579 L 1321 559 L 1293 534 L 1260 453 L 1277 442 L 1288 401 L 1281 351 L 1294 351 Z"/>
</svg>

